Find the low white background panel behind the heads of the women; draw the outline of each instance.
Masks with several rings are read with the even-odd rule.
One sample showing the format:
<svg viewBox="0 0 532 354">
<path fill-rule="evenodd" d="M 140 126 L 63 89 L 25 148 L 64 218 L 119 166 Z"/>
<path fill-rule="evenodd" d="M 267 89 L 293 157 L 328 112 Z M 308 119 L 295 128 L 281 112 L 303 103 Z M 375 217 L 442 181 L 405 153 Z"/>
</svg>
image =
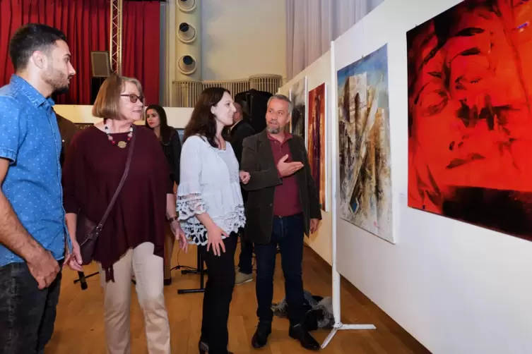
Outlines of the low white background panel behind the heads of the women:
<svg viewBox="0 0 532 354">
<path fill-rule="evenodd" d="M 164 107 L 168 125 L 174 128 L 184 128 L 189 122 L 193 108 L 185 107 Z M 56 104 L 54 110 L 69 119 L 73 123 L 97 123 L 101 121 L 92 114 L 93 106 L 79 104 Z M 137 124 L 143 125 L 145 121 L 138 121 Z"/>
</svg>

